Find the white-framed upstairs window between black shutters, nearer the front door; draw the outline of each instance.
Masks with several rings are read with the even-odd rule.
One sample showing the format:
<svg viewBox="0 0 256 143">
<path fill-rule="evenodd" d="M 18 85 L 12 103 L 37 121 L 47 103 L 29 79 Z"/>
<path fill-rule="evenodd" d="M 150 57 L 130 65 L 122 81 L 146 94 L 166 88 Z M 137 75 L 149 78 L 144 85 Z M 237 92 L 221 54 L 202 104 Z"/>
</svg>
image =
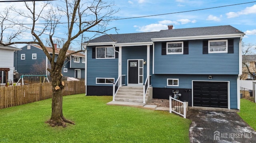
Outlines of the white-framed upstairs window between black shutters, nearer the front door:
<svg viewBox="0 0 256 143">
<path fill-rule="evenodd" d="M 183 42 L 167 42 L 167 54 L 183 54 Z"/>
</svg>

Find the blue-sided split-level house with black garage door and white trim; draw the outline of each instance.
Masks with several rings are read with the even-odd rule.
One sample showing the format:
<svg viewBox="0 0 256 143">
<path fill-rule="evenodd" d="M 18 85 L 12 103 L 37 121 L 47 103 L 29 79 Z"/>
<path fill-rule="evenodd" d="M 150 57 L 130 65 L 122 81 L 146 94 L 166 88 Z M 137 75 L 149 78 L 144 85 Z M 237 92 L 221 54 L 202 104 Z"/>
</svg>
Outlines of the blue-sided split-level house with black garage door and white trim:
<svg viewBox="0 0 256 143">
<path fill-rule="evenodd" d="M 244 35 L 230 25 L 102 35 L 84 43 L 86 95 L 113 95 L 120 78 L 122 86 L 150 79 L 153 98 L 179 90 L 189 106 L 240 109 Z"/>
</svg>

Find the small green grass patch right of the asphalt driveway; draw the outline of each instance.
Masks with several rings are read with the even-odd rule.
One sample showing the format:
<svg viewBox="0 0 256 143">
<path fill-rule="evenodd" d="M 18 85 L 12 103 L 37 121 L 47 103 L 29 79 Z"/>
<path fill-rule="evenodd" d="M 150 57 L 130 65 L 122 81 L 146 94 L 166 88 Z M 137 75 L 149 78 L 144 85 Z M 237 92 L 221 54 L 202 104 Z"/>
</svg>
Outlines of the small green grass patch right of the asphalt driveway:
<svg viewBox="0 0 256 143">
<path fill-rule="evenodd" d="M 256 103 L 240 99 L 240 112 L 238 115 L 256 130 Z"/>
</svg>

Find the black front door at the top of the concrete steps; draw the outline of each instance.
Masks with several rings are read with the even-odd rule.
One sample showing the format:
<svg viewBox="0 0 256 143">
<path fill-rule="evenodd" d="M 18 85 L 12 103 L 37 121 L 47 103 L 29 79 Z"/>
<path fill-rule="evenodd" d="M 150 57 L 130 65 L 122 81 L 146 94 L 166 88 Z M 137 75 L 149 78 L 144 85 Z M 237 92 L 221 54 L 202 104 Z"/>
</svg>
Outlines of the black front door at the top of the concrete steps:
<svg viewBox="0 0 256 143">
<path fill-rule="evenodd" d="M 128 62 L 128 84 L 138 84 L 138 60 Z"/>
</svg>

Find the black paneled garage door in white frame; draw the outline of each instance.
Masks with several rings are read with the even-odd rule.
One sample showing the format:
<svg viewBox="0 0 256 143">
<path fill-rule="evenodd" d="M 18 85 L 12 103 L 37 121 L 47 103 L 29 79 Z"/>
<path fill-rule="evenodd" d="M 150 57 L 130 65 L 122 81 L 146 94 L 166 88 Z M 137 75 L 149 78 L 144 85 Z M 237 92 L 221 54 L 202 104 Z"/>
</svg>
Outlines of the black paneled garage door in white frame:
<svg viewBox="0 0 256 143">
<path fill-rule="evenodd" d="M 228 82 L 193 81 L 193 106 L 228 108 Z"/>
</svg>

